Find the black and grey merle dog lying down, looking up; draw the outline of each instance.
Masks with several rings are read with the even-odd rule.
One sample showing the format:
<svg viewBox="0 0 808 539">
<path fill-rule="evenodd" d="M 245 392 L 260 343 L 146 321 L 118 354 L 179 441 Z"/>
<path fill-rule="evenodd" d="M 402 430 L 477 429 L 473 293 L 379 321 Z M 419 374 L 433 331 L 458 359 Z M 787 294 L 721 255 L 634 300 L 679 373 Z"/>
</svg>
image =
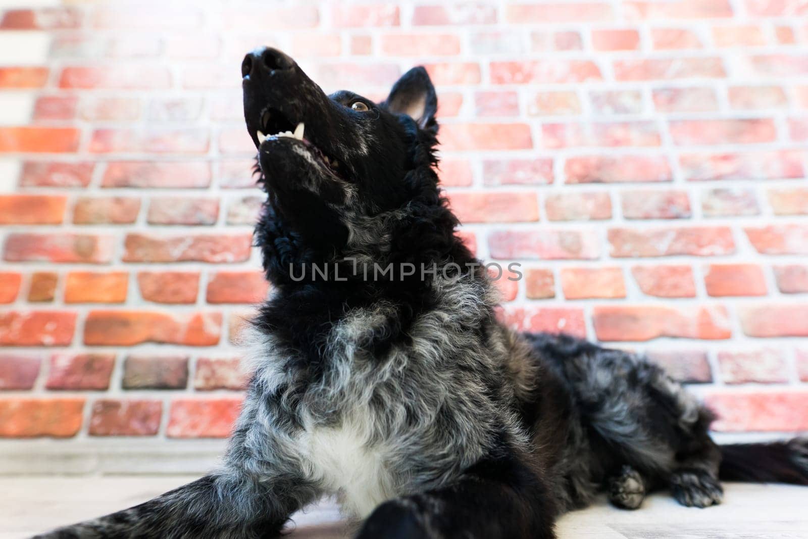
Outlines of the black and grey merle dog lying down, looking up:
<svg viewBox="0 0 808 539">
<path fill-rule="evenodd" d="M 224 464 L 40 537 L 276 537 L 336 495 L 358 537 L 545 538 L 599 491 L 707 507 L 719 478 L 808 484 L 808 440 L 718 446 L 710 412 L 642 357 L 499 322 L 438 187 L 423 68 L 381 103 L 326 95 L 271 48 L 242 79 L 273 288 Z"/>
</svg>

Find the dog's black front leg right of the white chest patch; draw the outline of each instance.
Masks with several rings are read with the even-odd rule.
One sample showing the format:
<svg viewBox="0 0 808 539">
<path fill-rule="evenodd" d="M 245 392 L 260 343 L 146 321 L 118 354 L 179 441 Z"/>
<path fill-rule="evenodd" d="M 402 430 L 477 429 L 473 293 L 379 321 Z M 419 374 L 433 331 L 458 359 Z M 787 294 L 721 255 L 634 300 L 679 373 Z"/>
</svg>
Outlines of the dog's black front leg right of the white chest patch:
<svg viewBox="0 0 808 539">
<path fill-rule="evenodd" d="M 481 461 L 440 489 L 382 503 L 357 539 L 551 539 L 557 510 L 516 457 Z"/>
</svg>

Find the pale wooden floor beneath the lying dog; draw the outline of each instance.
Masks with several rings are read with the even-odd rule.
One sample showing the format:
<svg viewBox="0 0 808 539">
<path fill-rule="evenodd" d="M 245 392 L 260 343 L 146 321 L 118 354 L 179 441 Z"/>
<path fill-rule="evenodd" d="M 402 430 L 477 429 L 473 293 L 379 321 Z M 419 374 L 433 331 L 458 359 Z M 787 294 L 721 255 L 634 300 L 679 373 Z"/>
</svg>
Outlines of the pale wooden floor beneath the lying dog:
<svg viewBox="0 0 808 539">
<path fill-rule="evenodd" d="M 59 524 L 140 503 L 191 480 L 187 476 L 103 478 L 0 478 L 0 539 L 29 537 Z M 292 539 L 346 537 L 331 503 L 294 518 Z M 558 523 L 562 539 L 808 539 L 808 487 L 726 485 L 721 506 L 681 507 L 664 494 L 642 509 L 619 511 L 600 500 Z"/>
</svg>

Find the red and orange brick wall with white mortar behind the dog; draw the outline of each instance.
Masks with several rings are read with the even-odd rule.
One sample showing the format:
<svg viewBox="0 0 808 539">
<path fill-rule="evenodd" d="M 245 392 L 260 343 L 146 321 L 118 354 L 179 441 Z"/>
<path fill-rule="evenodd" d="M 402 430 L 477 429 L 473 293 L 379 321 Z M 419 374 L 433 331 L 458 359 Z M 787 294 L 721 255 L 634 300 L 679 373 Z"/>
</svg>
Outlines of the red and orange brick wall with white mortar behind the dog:
<svg viewBox="0 0 808 539">
<path fill-rule="evenodd" d="M 427 65 L 464 232 L 522 264 L 513 326 L 648 352 L 719 431 L 808 430 L 806 2 L 13 3 L 0 436 L 226 436 L 267 290 L 239 81 L 258 44 L 373 98 Z"/>
</svg>

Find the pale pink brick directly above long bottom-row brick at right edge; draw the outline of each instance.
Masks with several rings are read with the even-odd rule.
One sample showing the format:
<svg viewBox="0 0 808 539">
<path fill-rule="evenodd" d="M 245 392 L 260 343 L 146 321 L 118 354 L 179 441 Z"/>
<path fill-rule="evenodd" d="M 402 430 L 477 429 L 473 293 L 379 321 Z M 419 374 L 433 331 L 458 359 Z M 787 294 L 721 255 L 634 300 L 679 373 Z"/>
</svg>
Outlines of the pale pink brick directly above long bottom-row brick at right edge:
<svg viewBox="0 0 808 539">
<path fill-rule="evenodd" d="M 776 384 L 789 381 L 785 356 L 776 348 L 718 352 L 718 368 L 725 384 Z"/>
</svg>

